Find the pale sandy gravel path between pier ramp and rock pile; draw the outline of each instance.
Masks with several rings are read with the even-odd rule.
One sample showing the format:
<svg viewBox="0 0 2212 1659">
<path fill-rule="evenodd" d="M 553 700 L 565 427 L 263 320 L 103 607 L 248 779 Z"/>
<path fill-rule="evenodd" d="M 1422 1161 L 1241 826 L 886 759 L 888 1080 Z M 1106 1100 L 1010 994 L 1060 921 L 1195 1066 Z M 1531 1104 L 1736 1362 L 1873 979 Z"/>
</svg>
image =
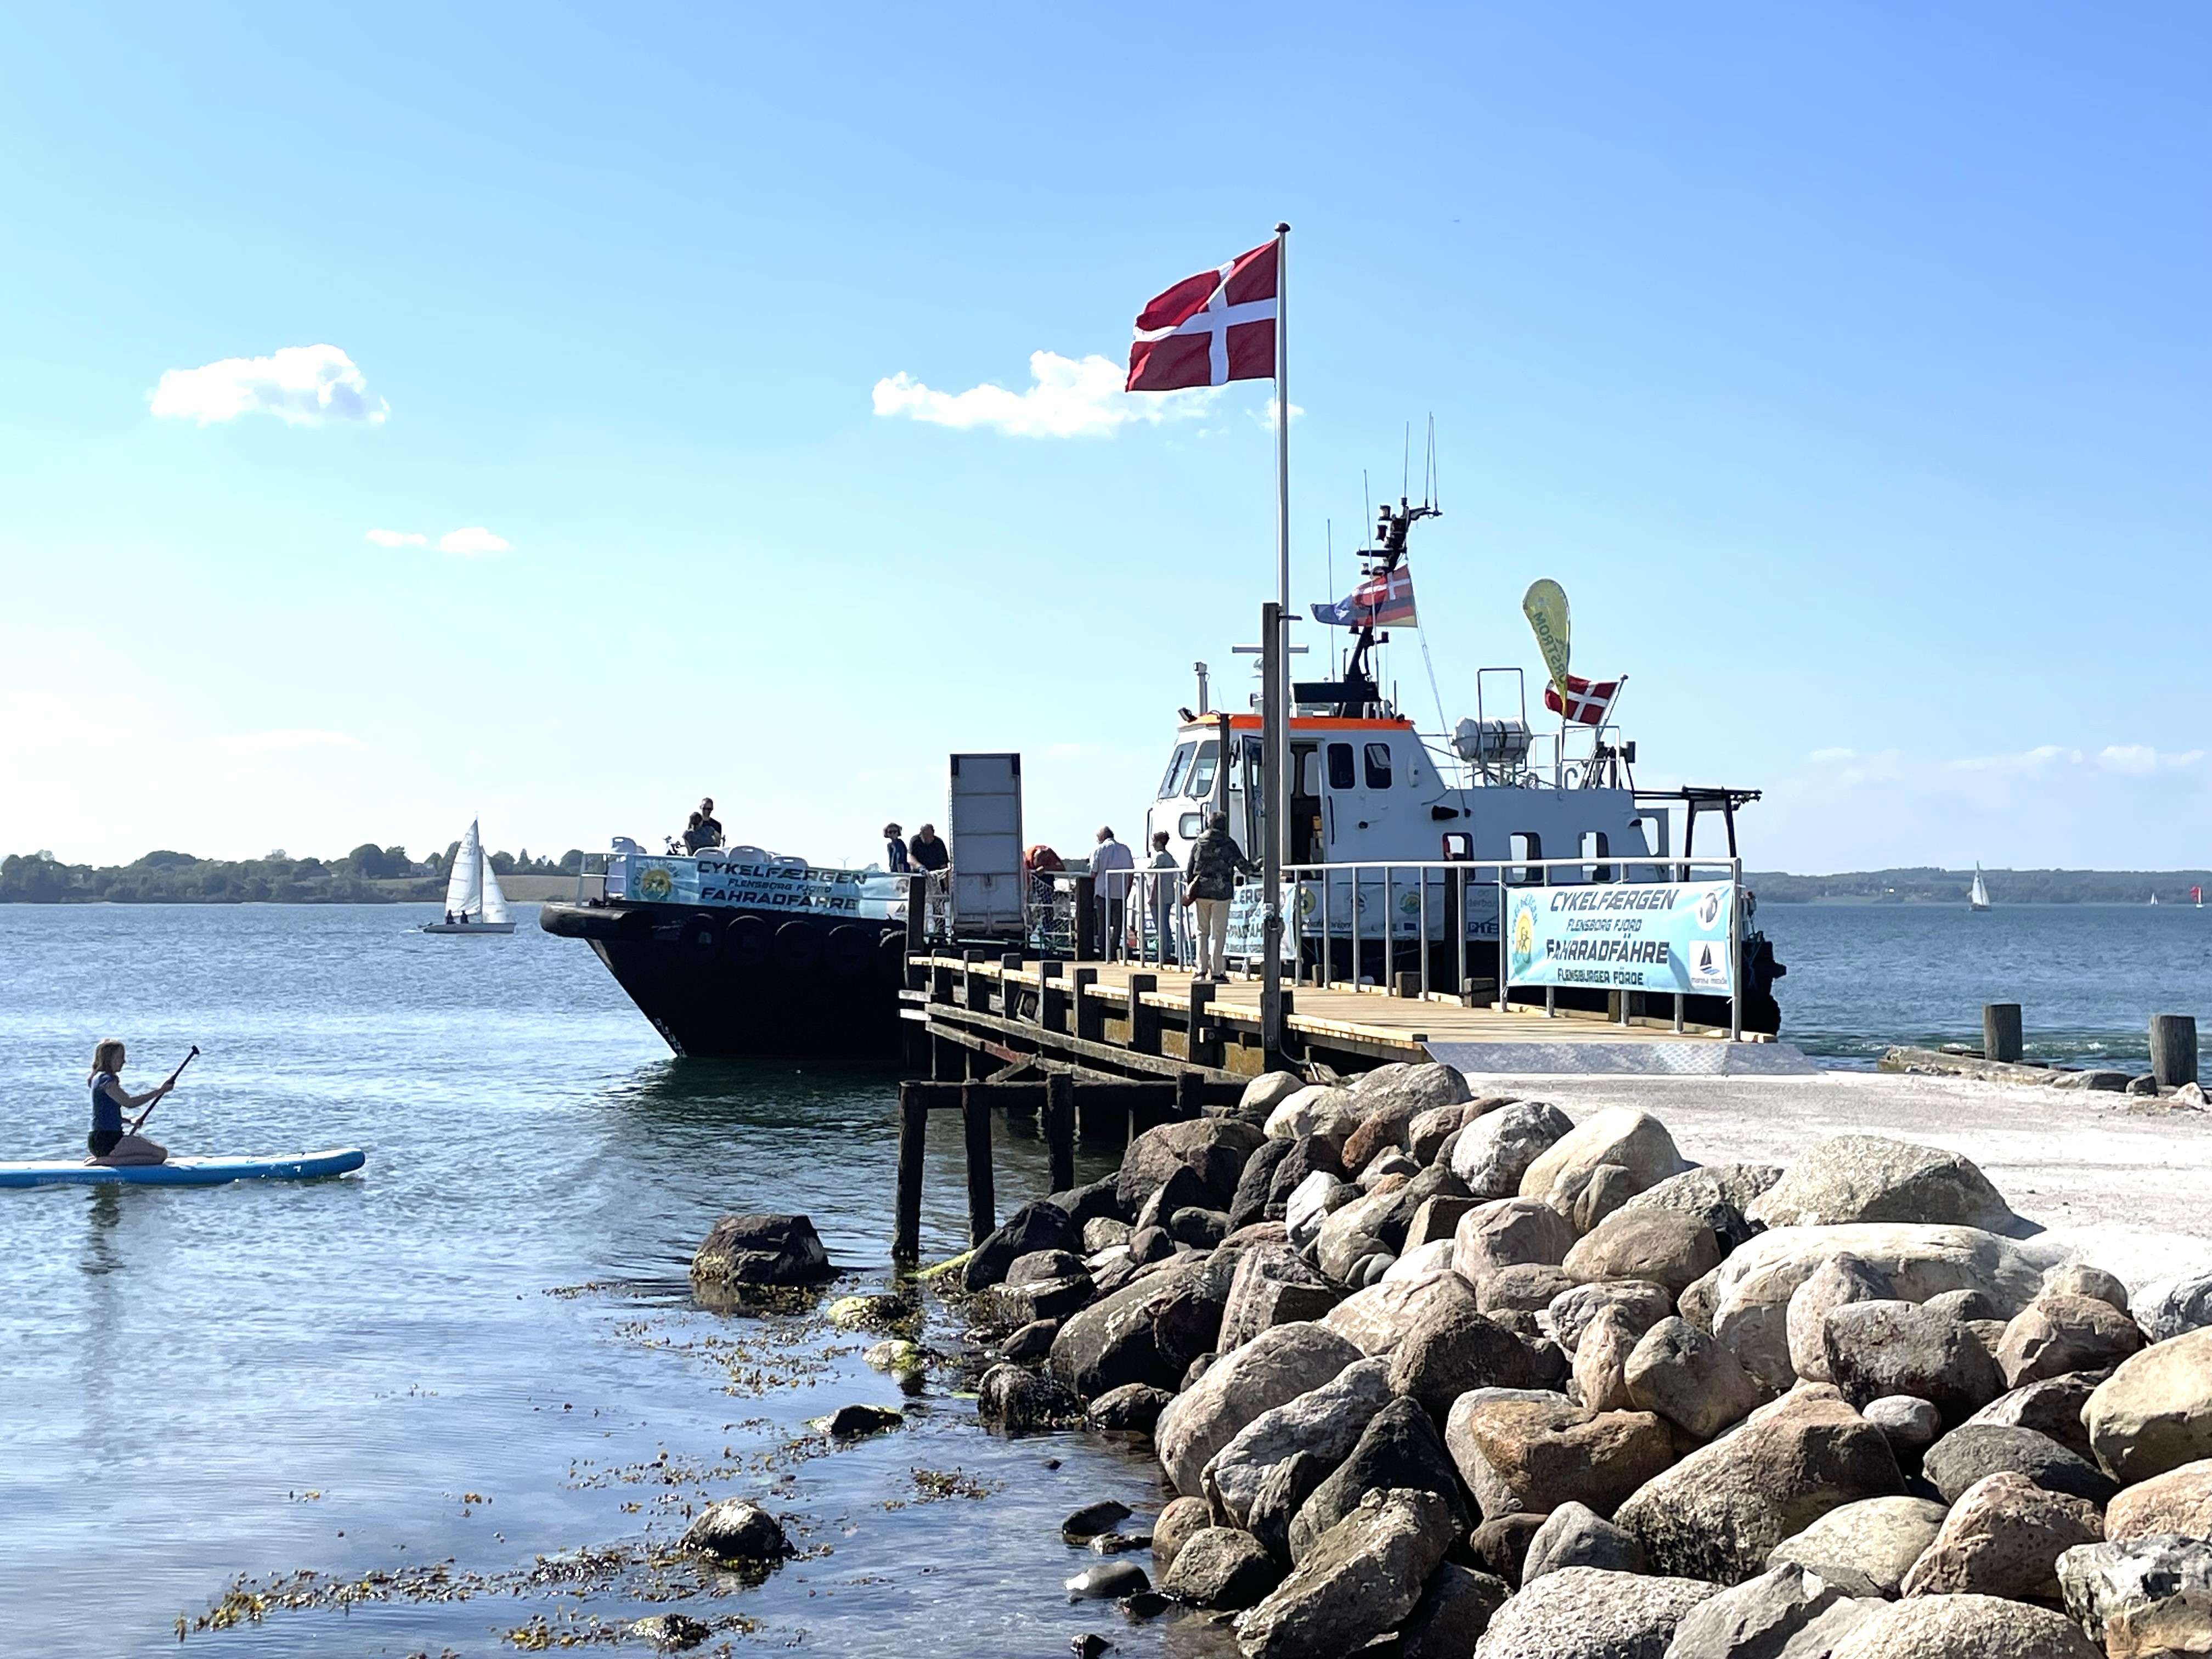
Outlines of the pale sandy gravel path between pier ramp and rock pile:
<svg viewBox="0 0 2212 1659">
<path fill-rule="evenodd" d="M 1699 1164 L 1787 1164 L 1827 1135 L 1964 1152 L 2048 1239 L 2139 1290 L 2212 1265 L 2212 1113 L 1960 1077 L 1469 1077 L 1571 1117 L 1641 1106 Z"/>
</svg>

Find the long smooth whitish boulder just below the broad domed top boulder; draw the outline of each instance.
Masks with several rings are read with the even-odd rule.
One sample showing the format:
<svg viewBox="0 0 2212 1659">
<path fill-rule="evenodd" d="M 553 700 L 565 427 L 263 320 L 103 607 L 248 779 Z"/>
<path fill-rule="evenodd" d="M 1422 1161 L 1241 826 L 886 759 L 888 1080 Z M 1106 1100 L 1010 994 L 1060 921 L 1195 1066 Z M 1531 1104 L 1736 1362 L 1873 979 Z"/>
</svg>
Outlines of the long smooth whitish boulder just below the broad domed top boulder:
<svg viewBox="0 0 2212 1659">
<path fill-rule="evenodd" d="M 1794 1378 L 1790 1296 L 1838 1250 L 1865 1261 L 1889 1281 L 1891 1296 L 1911 1303 L 1947 1290 L 1980 1290 L 2011 1314 L 2042 1285 L 2042 1265 L 2026 1250 L 1980 1228 L 1869 1221 L 1761 1232 L 1714 1270 L 1710 1329 L 1770 1389 L 1787 1389 Z M 1699 1285 L 1681 1294 L 1679 1312 L 1692 1325 L 1699 1323 L 1692 1314 Z"/>
</svg>

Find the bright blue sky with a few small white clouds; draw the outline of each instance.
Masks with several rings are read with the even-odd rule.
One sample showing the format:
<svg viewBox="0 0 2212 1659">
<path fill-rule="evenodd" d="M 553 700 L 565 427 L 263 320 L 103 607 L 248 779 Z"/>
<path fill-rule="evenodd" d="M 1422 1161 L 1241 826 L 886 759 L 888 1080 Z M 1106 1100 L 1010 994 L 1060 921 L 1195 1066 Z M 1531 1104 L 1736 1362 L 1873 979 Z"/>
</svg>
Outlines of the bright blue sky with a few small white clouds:
<svg viewBox="0 0 2212 1659">
<path fill-rule="evenodd" d="M 956 748 L 1033 836 L 1135 823 L 1272 588 L 1267 385 L 876 387 L 1119 358 L 1290 219 L 1294 597 L 1433 414 L 1451 719 L 1548 575 L 1641 781 L 1767 790 L 1759 865 L 2208 858 L 2212 11 L 1144 18 L 11 9 L 0 847 L 708 790 L 832 860 Z M 319 345 L 316 420 L 192 376 Z"/>
</svg>

